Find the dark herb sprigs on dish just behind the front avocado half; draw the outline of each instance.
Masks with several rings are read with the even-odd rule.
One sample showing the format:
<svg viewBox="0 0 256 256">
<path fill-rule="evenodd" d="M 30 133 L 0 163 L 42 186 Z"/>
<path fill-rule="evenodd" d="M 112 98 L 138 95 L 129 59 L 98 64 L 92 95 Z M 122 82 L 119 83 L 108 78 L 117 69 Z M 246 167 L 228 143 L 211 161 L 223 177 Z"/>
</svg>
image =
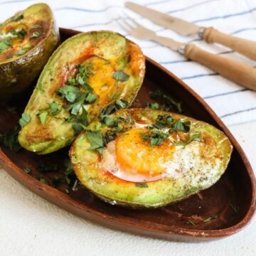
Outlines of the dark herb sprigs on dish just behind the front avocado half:
<svg viewBox="0 0 256 256">
<path fill-rule="evenodd" d="M 181 102 L 176 102 L 172 97 L 169 95 L 164 94 L 161 90 L 156 90 L 154 92 L 149 92 L 149 96 L 152 99 L 159 98 L 161 101 L 161 110 L 164 111 L 174 111 L 177 113 L 182 113 L 183 110 L 181 108 Z"/>
</svg>

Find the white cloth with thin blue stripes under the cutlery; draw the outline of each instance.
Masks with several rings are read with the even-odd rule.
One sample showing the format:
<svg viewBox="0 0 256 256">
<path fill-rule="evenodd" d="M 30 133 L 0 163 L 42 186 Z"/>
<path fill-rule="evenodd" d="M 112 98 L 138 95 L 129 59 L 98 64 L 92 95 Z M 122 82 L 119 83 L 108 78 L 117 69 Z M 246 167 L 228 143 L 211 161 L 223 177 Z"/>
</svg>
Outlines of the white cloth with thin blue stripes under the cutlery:
<svg viewBox="0 0 256 256">
<path fill-rule="evenodd" d="M 198 46 L 211 53 L 225 55 L 255 66 L 256 63 L 220 45 L 208 45 L 191 37 L 161 28 L 154 23 L 124 8 L 124 0 L 45 0 L 53 9 L 58 26 L 80 31 L 108 29 L 122 33 L 141 46 L 145 55 L 184 80 L 213 108 L 228 126 L 256 119 L 256 92 L 247 90 L 217 75 L 212 70 L 186 60 L 183 56 L 152 41 L 140 41 L 123 31 L 115 18 L 126 11 L 147 28 L 161 36 L 170 36 L 179 41 L 195 41 Z M 256 38 L 255 0 L 137 0 L 137 4 L 185 18 L 201 26 L 214 26 L 225 33 L 241 38 Z M 0 0 L 1 20 L 14 12 L 25 9 L 34 0 Z"/>
</svg>

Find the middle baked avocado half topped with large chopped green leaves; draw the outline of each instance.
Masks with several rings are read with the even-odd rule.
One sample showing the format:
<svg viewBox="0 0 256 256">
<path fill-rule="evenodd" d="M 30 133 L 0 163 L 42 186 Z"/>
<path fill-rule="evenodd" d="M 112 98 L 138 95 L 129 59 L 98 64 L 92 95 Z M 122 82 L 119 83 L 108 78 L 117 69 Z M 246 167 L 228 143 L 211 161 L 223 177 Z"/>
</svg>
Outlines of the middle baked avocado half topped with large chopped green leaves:
<svg viewBox="0 0 256 256">
<path fill-rule="evenodd" d="M 67 146 L 92 120 L 128 107 L 144 73 L 142 50 L 118 33 L 69 38 L 38 79 L 20 120 L 19 143 L 38 154 Z"/>
</svg>

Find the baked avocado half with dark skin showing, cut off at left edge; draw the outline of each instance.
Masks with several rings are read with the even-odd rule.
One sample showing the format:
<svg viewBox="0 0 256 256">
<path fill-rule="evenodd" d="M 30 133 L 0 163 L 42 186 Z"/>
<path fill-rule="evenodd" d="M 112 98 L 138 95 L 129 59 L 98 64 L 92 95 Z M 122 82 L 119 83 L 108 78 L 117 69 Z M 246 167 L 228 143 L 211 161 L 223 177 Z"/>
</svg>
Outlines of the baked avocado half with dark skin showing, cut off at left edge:
<svg viewBox="0 0 256 256">
<path fill-rule="evenodd" d="M 0 25 L 0 100 L 25 90 L 59 42 L 47 4 L 34 4 Z"/>
</svg>

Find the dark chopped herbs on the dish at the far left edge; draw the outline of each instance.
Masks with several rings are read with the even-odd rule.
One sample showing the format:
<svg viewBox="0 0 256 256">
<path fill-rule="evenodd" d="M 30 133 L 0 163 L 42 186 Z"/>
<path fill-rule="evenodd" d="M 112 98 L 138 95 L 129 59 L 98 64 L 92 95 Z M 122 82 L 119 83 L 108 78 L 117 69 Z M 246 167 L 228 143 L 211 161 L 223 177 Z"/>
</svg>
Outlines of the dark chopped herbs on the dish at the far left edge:
<svg viewBox="0 0 256 256">
<path fill-rule="evenodd" d="M 9 130 L 9 132 L 0 133 L 0 142 L 7 148 L 18 152 L 21 149 L 21 145 L 18 143 L 18 132 L 19 128 L 16 127 L 14 130 Z"/>
</svg>

